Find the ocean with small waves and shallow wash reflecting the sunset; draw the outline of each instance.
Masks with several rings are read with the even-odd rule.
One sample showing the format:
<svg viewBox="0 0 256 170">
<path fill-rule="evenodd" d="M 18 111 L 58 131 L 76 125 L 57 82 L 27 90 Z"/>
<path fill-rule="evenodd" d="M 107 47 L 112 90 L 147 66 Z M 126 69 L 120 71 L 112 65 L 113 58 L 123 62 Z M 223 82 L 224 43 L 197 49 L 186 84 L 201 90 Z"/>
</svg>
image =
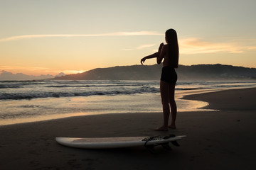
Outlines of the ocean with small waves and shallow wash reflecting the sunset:
<svg viewBox="0 0 256 170">
<path fill-rule="evenodd" d="M 255 87 L 256 81 L 178 81 L 178 112 L 210 111 L 188 94 Z M 159 81 L 0 81 L 0 125 L 77 115 L 161 112 Z"/>
</svg>

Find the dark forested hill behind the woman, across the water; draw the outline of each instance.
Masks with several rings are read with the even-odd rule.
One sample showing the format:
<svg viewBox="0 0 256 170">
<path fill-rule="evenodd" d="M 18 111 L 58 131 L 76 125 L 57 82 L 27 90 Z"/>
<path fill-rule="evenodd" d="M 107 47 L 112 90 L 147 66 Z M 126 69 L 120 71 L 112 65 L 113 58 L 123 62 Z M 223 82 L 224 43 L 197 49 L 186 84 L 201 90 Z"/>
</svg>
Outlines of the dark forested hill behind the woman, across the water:
<svg viewBox="0 0 256 170">
<path fill-rule="evenodd" d="M 223 64 L 179 65 L 179 80 L 256 79 L 255 68 Z M 159 80 L 161 65 L 132 65 L 97 68 L 79 74 L 55 77 L 58 80 Z"/>
</svg>

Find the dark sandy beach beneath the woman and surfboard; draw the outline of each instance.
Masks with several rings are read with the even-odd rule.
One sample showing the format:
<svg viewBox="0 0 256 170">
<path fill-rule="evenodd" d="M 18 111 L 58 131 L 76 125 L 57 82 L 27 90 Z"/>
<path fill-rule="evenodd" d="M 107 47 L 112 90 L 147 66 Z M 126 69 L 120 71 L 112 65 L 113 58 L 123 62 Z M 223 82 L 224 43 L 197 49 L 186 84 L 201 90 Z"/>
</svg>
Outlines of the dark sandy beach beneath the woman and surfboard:
<svg viewBox="0 0 256 170">
<path fill-rule="evenodd" d="M 256 89 L 185 96 L 219 111 L 182 112 L 177 129 L 156 132 L 161 113 L 87 115 L 0 126 L 0 167 L 8 169 L 255 169 Z M 187 135 L 156 154 L 144 147 L 74 149 L 55 137 Z"/>
</svg>

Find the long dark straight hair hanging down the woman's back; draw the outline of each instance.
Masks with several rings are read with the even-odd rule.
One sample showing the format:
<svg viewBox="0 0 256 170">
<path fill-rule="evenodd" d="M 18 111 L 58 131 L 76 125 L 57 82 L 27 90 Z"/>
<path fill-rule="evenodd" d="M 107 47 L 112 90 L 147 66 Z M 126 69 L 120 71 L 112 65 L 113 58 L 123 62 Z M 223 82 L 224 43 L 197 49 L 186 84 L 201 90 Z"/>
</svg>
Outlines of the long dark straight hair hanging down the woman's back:
<svg viewBox="0 0 256 170">
<path fill-rule="evenodd" d="M 178 36 L 176 30 L 166 30 L 166 42 L 169 45 L 169 57 L 171 66 L 178 68 Z"/>
</svg>

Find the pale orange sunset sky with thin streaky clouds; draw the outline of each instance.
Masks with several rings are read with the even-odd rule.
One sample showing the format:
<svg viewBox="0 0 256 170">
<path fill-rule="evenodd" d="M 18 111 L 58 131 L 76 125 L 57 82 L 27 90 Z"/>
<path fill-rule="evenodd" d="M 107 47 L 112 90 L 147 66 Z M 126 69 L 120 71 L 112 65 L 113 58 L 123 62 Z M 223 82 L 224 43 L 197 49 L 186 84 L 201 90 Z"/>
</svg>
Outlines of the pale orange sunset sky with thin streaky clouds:
<svg viewBox="0 0 256 170">
<path fill-rule="evenodd" d="M 256 68 L 255 7 L 255 0 L 0 0 L 0 73 L 140 64 L 169 28 L 178 34 L 179 64 Z"/>
</svg>

